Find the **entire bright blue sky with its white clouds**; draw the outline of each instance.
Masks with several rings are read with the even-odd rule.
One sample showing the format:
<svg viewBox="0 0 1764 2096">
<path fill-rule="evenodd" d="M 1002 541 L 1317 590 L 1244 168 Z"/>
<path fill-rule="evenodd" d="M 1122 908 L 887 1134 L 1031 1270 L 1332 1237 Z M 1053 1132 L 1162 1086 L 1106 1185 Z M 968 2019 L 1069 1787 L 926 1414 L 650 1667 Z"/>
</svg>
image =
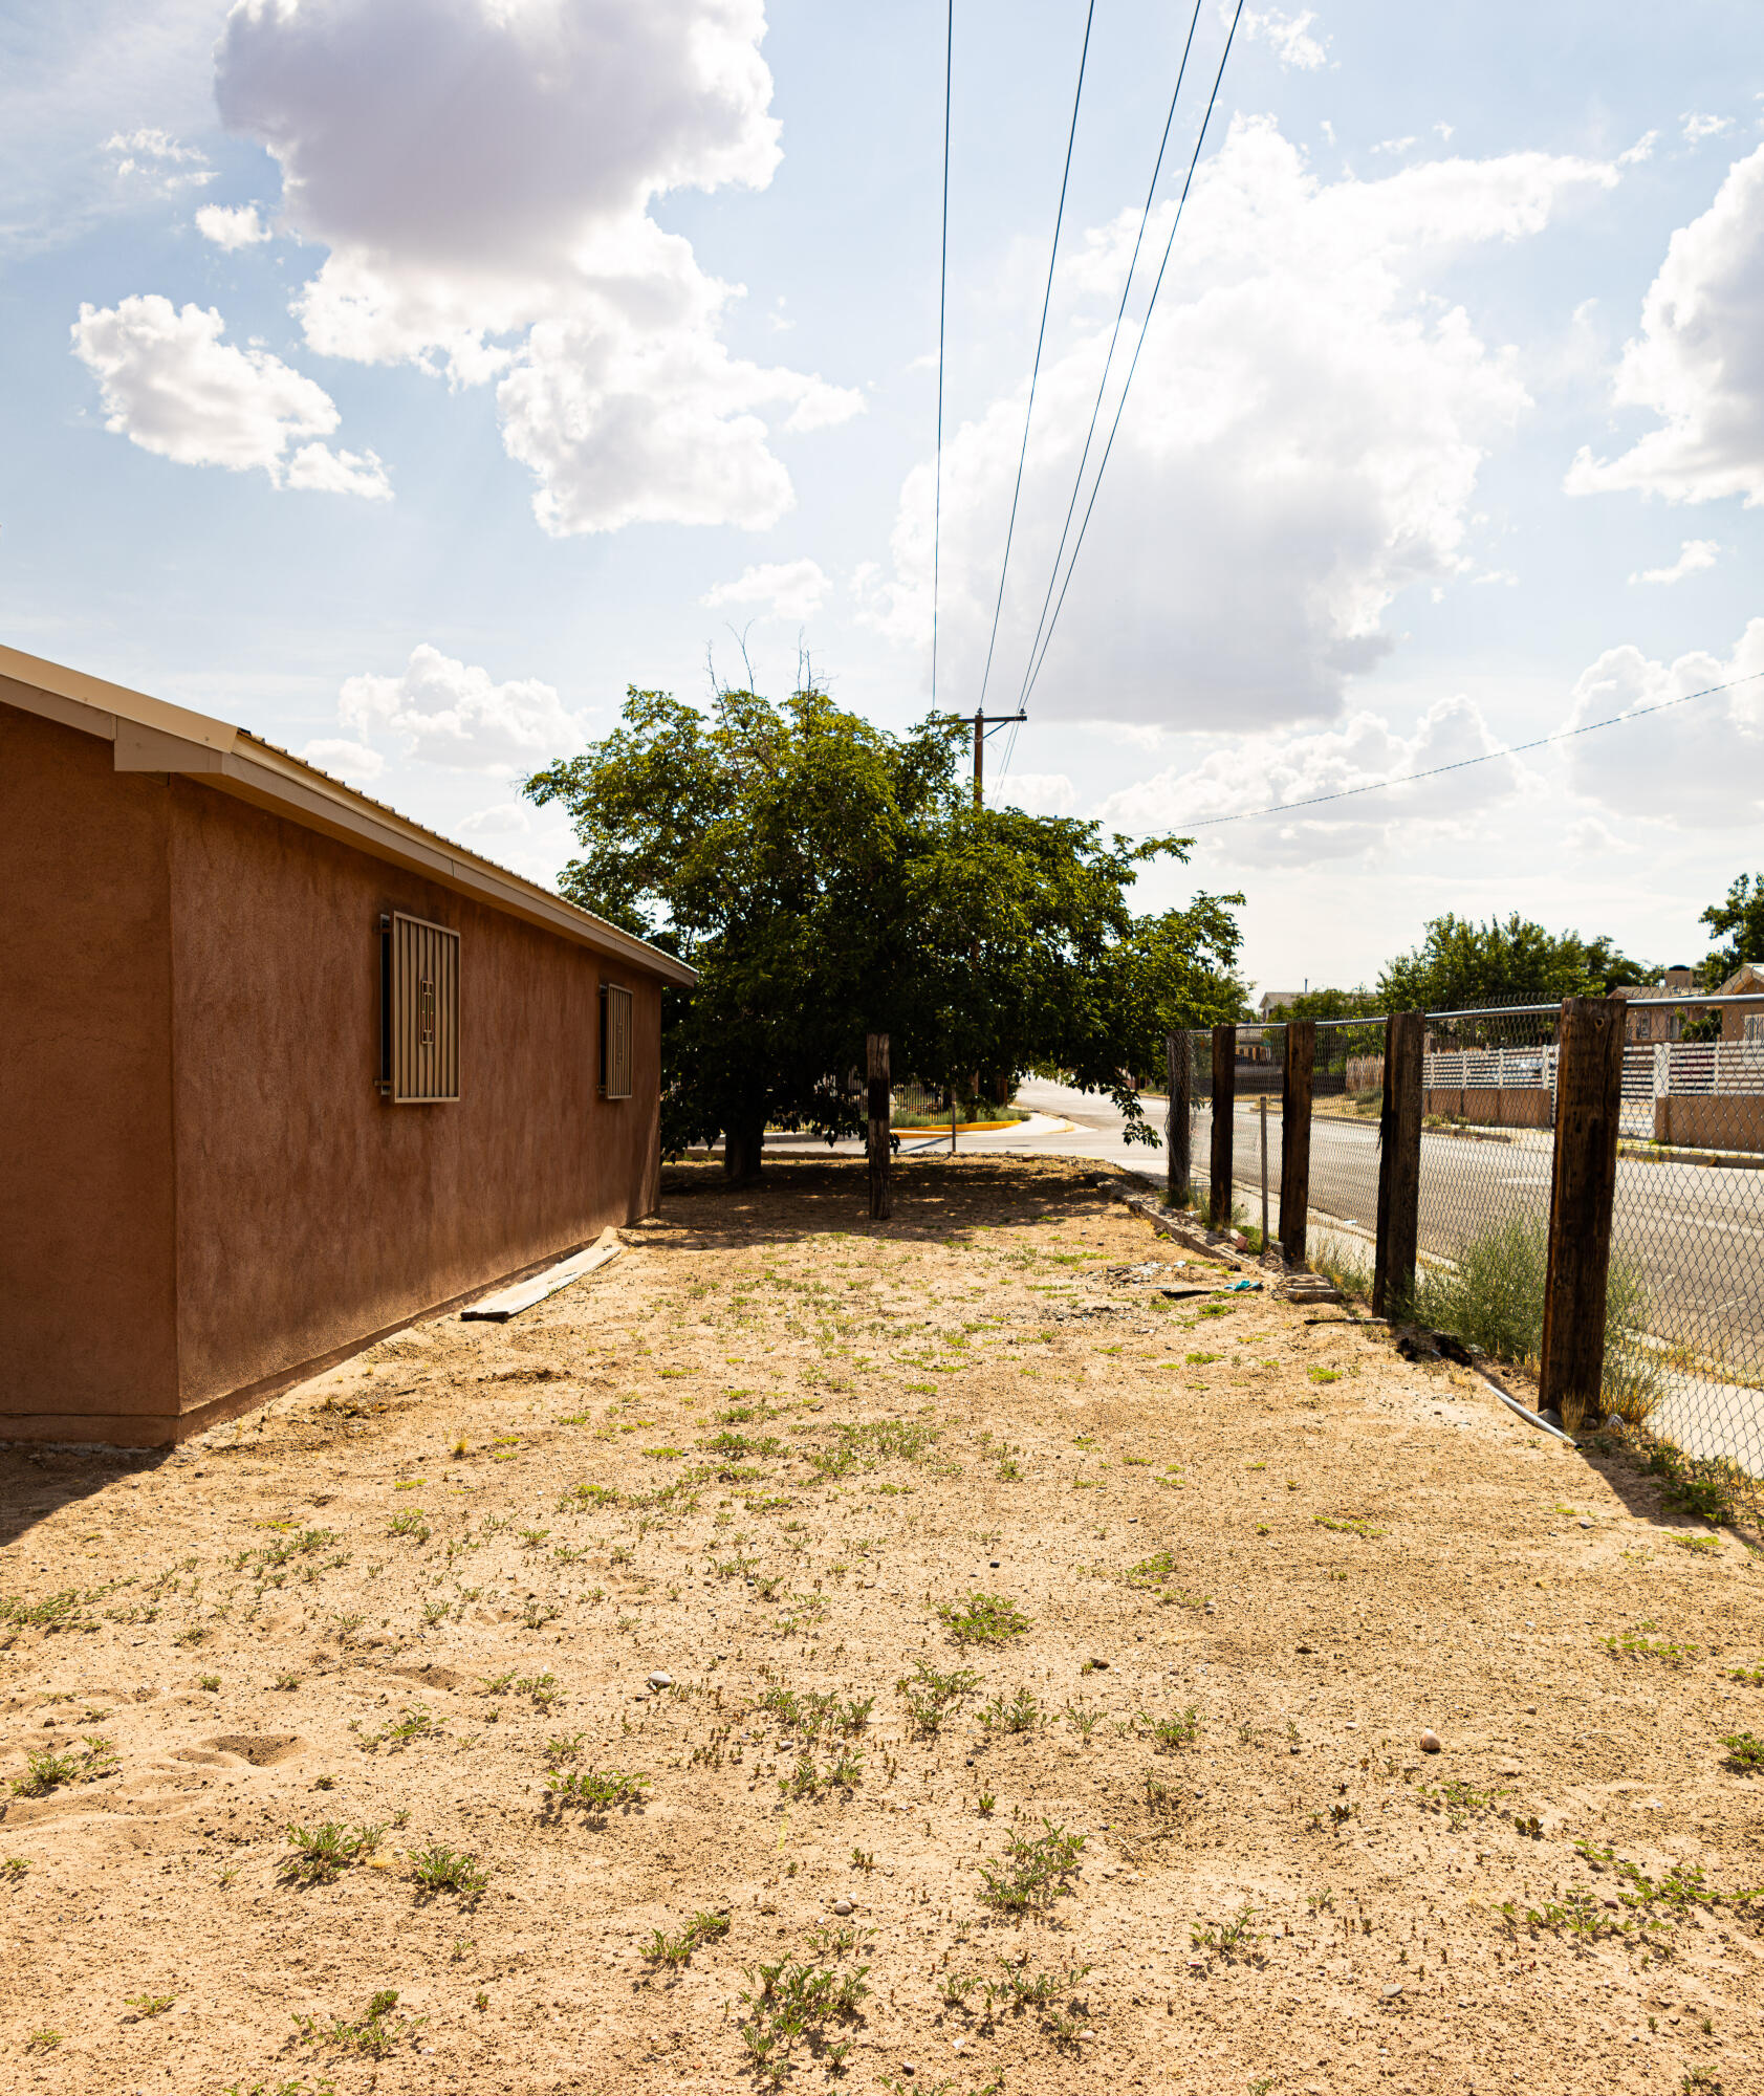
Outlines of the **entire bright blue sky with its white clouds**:
<svg viewBox="0 0 1764 2096">
<path fill-rule="evenodd" d="M 939 700 L 999 587 L 1085 8 L 957 0 Z M 1228 13 L 1203 0 L 1106 396 Z M 0 8 L 0 637 L 549 878 L 626 683 L 928 704 L 943 6 Z M 1756 8 L 1244 8 L 993 792 L 1133 830 L 1764 671 Z M 1098 0 L 987 704 L 1008 711 L 1188 10 Z M 1150 266 L 1148 266 L 1150 262 Z M 1439 910 L 1697 958 L 1764 679 L 1198 828 L 1263 987 Z"/>
</svg>

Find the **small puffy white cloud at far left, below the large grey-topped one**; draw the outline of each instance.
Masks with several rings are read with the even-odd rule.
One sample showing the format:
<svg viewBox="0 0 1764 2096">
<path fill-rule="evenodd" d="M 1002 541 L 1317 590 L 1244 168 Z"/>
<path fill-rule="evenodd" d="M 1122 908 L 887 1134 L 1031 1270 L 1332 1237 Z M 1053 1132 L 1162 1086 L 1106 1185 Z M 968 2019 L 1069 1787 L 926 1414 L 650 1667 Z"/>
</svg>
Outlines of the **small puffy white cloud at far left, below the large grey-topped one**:
<svg viewBox="0 0 1764 2096">
<path fill-rule="evenodd" d="M 180 465 L 262 467 L 277 486 L 388 497 L 373 453 L 318 442 L 341 421 L 325 388 L 268 350 L 222 342 L 224 329 L 212 306 L 157 293 L 82 306 L 73 354 L 98 379 L 105 428 Z"/>
</svg>

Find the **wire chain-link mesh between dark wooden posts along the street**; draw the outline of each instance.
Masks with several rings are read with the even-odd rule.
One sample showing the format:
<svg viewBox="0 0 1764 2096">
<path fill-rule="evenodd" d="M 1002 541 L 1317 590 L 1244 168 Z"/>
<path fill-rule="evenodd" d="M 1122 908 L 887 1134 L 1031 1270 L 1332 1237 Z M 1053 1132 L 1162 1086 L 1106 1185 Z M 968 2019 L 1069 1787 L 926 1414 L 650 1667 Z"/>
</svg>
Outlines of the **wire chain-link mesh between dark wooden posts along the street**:
<svg viewBox="0 0 1764 2096">
<path fill-rule="evenodd" d="M 1416 1310 L 1536 1367 L 1548 1274 L 1561 1006 L 1429 1012 Z M 1370 1283 L 1385 1021 L 1318 1021 L 1311 1262 Z M 1213 1044 L 1188 1035 L 1205 1205 Z M 1284 1027 L 1238 1027 L 1232 1220 L 1280 1232 Z M 1215 1218 L 1223 1220 L 1223 1218 Z M 1764 1000 L 1626 1000 L 1605 1402 L 1684 1455 L 1764 1480 Z"/>
</svg>

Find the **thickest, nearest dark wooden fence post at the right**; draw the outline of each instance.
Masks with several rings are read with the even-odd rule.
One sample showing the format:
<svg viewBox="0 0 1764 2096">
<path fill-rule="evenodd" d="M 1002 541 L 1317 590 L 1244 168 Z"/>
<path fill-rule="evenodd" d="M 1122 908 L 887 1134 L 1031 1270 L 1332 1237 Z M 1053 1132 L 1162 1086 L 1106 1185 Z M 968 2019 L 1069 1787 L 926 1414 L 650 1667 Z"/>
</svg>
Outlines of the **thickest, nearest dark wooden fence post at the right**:
<svg viewBox="0 0 1764 2096">
<path fill-rule="evenodd" d="M 1624 1105 L 1624 1000 L 1563 998 L 1557 1044 L 1557 1161 L 1538 1409 L 1573 1434 L 1598 1419 L 1605 1388 L 1605 1285 Z"/>
</svg>

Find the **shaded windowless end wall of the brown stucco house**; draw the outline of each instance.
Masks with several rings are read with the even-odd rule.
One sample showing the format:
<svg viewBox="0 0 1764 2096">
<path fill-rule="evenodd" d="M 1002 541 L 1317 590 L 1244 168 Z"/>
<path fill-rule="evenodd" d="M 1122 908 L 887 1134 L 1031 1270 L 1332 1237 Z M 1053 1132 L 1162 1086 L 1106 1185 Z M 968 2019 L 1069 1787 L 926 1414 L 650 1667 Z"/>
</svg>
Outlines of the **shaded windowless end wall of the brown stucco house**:
<svg viewBox="0 0 1764 2096">
<path fill-rule="evenodd" d="M 176 1409 L 172 794 L 0 704 L 0 1438 Z"/>
</svg>

